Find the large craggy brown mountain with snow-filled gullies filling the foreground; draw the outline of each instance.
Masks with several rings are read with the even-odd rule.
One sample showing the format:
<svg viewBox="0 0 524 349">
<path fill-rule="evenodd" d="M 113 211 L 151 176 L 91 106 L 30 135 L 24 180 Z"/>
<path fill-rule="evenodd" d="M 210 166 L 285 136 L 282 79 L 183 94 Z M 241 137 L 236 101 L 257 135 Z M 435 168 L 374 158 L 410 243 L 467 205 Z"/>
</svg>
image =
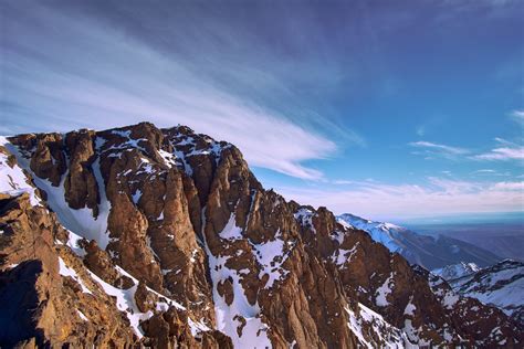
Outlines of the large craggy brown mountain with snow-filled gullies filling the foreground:
<svg viewBox="0 0 524 349">
<path fill-rule="evenodd" d="M 265 190 L 233 145 L 178 126 L 0 146 L 0 346 L 521 347 L 326 208 Z"/>
</svg>

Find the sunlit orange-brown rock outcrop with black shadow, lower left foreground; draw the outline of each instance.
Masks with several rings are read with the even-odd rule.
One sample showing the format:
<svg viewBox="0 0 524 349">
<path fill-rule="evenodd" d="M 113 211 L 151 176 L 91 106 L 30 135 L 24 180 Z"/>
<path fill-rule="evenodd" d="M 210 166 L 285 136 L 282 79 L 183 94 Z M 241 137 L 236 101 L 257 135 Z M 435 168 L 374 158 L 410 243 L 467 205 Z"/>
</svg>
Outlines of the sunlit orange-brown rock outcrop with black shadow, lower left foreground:
<svg viewBox="0 0 524 349">
<path fill-rule="evenodd" d="M 126 319 L 107 296 L 95 298 L 77 281 L 60 274 L 65 265 L 80 268 L 82 263 L 54 246 L 54 235 L 61 230 L 55 216 L 42 207 L 31 207 L 27 194 L 4 199 L 0 205 L 0 228 L 7 232 L 0 235 L 2 346 L 134 343 Z"/>
</svg>

